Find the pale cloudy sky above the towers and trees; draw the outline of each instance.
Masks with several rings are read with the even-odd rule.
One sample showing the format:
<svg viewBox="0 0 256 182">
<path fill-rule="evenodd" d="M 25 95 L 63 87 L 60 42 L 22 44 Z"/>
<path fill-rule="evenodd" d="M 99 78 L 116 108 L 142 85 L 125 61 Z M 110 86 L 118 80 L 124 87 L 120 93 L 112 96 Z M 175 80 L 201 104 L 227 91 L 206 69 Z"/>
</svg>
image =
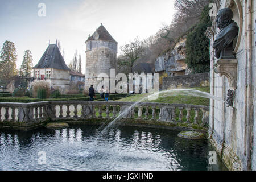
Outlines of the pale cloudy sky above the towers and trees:
<svg viewBox="0 0 256 182">
<path fill-rule="evenodd" d="M 46 5 L 46 16 L 38 15 L 43 12 L 39 3 Z M 36 65 L 49 41 L 53 44 L 57 39 L 66 64 L 77 49 L 85 72 L 85 41 L 101 23 L 119 48 L 170 24 L 173 7 L 174 0 L 0 0 L 0 47 L 6 40 L 15 44 L 19 69 L 26 50 L 32 52 Z"/>
</svg>

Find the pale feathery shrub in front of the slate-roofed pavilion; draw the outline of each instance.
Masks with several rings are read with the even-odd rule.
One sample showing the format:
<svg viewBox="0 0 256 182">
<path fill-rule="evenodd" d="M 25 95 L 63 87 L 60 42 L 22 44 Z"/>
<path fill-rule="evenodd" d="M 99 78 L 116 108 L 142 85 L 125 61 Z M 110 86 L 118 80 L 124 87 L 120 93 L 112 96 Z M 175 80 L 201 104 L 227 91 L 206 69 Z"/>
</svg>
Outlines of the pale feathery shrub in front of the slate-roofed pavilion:
<svg viewBox="0 0 256 182">
<path fill-rule="evenodd" d="M 33 94 L 33 97 L 34 98 L 38 98 L 41 97 L 40 96 L 40 93 L 43 94 L 43 92 L 45 92 L 46 94 L 46 98 L 49 98 L 50 96 L 50 86 L 49 86 L 49 82 L 48 81 L 44 81 L 44 80 L 36 80 L 36 81 L 33 81 L 31 83 L 32 85 L 32 94 Z M 39 91 L 39 95 L 38 95 L 38 90 L 40 89 Z M 43 91 L 45 90 L 45 91 Z"/>
</svg>

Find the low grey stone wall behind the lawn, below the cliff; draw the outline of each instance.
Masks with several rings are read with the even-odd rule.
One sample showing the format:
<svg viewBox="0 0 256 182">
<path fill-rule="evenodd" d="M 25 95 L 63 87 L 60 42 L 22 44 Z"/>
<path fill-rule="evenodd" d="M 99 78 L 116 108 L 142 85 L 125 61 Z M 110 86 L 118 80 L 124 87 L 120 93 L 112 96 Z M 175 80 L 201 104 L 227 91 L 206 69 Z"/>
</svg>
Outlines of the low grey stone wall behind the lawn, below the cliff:
<svg viewBox="0 0 256 182">
<path fill-rule="evenodd" d="M 210 86 L 209 73 L 198 73 L 183 76 L 163 78 L 163 90 L 184 87 L 206 87 Z"/>
</svg>

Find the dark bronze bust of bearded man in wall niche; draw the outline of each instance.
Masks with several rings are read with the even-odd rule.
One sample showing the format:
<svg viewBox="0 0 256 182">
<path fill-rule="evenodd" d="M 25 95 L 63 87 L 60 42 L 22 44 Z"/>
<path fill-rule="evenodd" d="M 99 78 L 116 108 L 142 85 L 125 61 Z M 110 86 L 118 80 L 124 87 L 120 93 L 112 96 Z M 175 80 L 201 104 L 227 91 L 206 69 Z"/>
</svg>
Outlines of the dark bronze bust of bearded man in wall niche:
<svg viewBox="0 0 256 182">
<path fill-rule="evenodd" d="M 215 57 L 218 59 L 236 58 L 233 50 L 234 46 L 236 46 L 239 28 L 232 18 L 233 11 L 231 9 L 224 8 L 218 11 L 216 23 L 221 31 L 213 43 Z"/>
</svg>

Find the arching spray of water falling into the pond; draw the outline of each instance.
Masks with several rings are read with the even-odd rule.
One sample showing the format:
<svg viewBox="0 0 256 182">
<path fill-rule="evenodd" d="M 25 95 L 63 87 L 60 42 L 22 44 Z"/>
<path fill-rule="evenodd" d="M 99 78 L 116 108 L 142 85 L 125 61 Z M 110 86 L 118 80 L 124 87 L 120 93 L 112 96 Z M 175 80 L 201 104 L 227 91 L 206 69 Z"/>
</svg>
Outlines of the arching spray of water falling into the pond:
<svg viewBox="0 0 256 182">
<path fill-rule="evenodd" d="M 220 97 L 216 97 L 213 96 L 212 94 L 209 94 L 207 92 L 201 92 L 199 90 L 193 90 L 193 89 L 171 89 L 171 90 L 164 90 L 164 91 L 160 91 L 157 93 L 151 93 L 151 94 L 146 94 L 144 97 L 141 98 L 141 100 L 134 102 L 133 105 L 129 106 L 126 110 L 122 110 L 122 112 L 115 117 L 112 122 L 108 123 L 108 125 L 102 125 L 99 128 L 99 133 L 98 133 L 98 137 L 104 136 L 105 134 L 108 134 L 109 129 L 116 129 L 121 125 L 121 120 L 123 117 L 125 117 L 125 115 L 129 114 L 129 112 L 131 111 L 131 109 L 133 107 L 138 107 L 140 105 L 143 104 L 143 101 L 148 100 L 148 98 L 153 98 L 155 96 L 159 96 L 161 97 L 167 97 L 167 96 L 176 96 L 177 94 L 181 95 L 181 96 L 195 96 L 195 97 L 204 97 L 204 98 L 209 98 L 212 100 L 217 100 L 217 101 L 221 101 L 221 102 L 225 102 L 224 100 L 222 100 L 222 98 Z"/>
</svg>

